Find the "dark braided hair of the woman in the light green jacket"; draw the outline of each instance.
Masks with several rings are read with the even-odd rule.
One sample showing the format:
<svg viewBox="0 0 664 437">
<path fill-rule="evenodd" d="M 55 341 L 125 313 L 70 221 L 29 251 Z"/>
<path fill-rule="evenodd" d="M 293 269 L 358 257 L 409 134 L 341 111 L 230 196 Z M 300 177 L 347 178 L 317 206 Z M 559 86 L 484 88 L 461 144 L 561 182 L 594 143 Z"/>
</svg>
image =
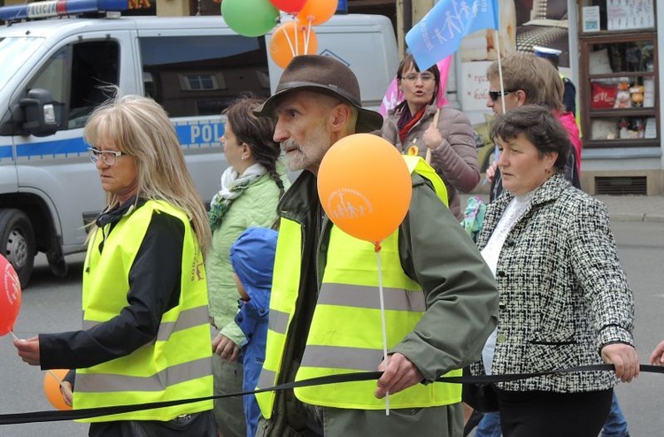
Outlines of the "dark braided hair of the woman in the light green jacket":
<svg viewBox="0 0 664 437">
<path fill-rule="evenodd" d="M 253 113 L 261 103 L 263 100 L 244 96 L 231 103 L 223 113 L 228 118 L 238 142 L 249 146 L 251 157 L 266 168 L 270 178 L 283 194 L 283 181 L 276 169 L 282 149 L 279 143 L 273 140 L 274 119 L 257 117 Z"/>
</svg>

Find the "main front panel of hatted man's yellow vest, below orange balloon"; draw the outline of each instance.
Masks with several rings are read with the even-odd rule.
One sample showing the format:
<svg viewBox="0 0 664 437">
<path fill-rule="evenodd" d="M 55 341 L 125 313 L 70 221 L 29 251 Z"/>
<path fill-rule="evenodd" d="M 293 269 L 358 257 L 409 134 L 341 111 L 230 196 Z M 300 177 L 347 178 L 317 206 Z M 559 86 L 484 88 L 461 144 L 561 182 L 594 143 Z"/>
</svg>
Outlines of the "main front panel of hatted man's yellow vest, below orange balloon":
<svg viewBox="0 0 664 437">
<path fill-rule="evenodd" d="M 398 231 L 386 238 L 381 247 L 385 326 L 390 349 L 413 331 L 426 309 L 420 285 L 401 267 Z M 319 300 L 296 380 L 377 370 L 383 357 L 378 273 L 374 244 L 353 238 L 333 226 Z M 460 374 L 459 370 L 447 376 Z M 314 405 L 382 410 L 385 400 L 376 399 L 374 390 L 375 381 L 357 381 L 300 387 L 295 389 L 295 395 L 300 401 Z M 458 403 L 460 399 L 458 385 L 417 384 L 390 394 L 390 408 L 432 407 Z"/>
</svg>

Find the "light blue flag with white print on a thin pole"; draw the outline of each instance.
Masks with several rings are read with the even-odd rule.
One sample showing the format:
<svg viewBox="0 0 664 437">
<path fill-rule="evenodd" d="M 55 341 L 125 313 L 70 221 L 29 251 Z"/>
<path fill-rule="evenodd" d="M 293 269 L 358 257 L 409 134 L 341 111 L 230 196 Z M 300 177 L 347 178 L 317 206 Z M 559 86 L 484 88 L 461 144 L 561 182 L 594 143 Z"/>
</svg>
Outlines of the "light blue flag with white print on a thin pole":
<svg viewBox="0 0 664 437">
<path fill-rule="evenodd" d="M 481 29 L 498 29 L 498 0 L 440 0 L 405 35 L 420 70 L 459 49 L 461 39 Z"/>
</svg>

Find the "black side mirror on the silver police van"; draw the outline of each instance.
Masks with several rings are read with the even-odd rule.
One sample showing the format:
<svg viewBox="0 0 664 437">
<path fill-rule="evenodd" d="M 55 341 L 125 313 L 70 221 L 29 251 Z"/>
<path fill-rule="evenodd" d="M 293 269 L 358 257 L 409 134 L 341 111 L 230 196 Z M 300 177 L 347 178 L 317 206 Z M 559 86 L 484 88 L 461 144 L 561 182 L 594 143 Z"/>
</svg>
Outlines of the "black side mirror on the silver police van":
<svg viewBox="0 0 664 437">
<path fill-rule="evenodd" d="M 58 131 L 59 105 L 53 103 L 50 92 L 43 88 L 33 88 L 27 92 L 27 97 L 19 100 L 19 105 L 25 113 L 23 130 L 35 136 L 48 136 Z"/>
</svg>

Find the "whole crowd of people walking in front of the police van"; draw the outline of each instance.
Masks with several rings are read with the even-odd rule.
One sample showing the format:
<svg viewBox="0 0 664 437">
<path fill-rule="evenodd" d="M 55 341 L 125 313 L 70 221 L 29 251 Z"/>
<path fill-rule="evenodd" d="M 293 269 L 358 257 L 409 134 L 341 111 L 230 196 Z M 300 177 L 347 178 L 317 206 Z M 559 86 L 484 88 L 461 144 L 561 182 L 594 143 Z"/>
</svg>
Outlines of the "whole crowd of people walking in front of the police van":
<svg viewBox="0 0 664 437">
<path fill-rule="evenodd" d="M 89 418 L 91 436 L 459 436 L 478 421 L 477 437 L 629 435 L 614 386 L 639 373 L 634 299 L 606 207 L 580 189 L 574 109 L 544 58 L 488 68 L 498 153 L 473 238 L 459 226 L 459 194 L 480 180 L 473 127 L 437 107 L 436 65 L 410 55 L 385 119 L 362 107 L 348 66 L 317 55 L 293 58 L 266 100 L 231 103 L 207 212 L 166 111 L 104 103 L 85 127 L 107 202 L 89 232 L 82 329 L 17 339 L 19 357 L 72 369 L 61 387 L 74 409 L 218 397 Z M 421 157 L 380 270 L 316 186 L 328 149 L 359 133 Z M 664 364 L 664 341 L 650 361 Z M 549 372 L 604 363 L 614 371 Z M 463 408 L 478 386 L 436 382 L 462 372 L 545 374 L 483 386 L 491 406 Z"/>
</svg>

